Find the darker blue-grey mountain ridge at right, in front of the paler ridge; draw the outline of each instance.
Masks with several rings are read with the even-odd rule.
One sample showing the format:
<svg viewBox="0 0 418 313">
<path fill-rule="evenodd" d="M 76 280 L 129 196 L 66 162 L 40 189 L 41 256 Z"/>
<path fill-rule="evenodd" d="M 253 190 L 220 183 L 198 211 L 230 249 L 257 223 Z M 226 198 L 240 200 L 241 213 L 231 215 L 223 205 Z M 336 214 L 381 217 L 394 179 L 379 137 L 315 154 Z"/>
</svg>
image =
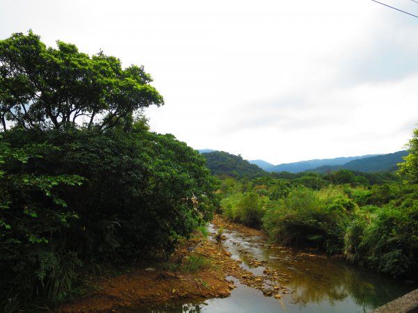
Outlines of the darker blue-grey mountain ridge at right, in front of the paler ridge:
<svg viewBox="0 0 418 313">
<path fill-rule="evenodd" d="M 396 164 L 404 162 L 403 157 L 408 151 L 398 151 L 389 154 L 382 154 L 375 157 L 357 159 L 339 166 L 320 166 L 308 170 L 309 172 L 332 172 L 334 170 L 354 170 L 358 172 L 389 172 L 397 170 Z"/>
</svg>

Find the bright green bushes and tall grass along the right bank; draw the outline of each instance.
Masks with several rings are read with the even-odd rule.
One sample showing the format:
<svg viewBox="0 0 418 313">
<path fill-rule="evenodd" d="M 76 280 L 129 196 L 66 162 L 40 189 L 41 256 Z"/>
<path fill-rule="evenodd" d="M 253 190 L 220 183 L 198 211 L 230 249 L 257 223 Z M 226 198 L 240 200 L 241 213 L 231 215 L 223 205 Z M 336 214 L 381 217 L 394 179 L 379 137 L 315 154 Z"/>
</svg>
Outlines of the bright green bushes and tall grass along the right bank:
<svg viewBox="0 0 418 313">
<path fill-rule="evenodd" d="M 320 248 L 394 277 L 417 278 L 417 137 L 415 130 L 401 177 L 350 170 L 229 177 L 222 180 L 220 211 L 281 244 Z"/>
</svg>

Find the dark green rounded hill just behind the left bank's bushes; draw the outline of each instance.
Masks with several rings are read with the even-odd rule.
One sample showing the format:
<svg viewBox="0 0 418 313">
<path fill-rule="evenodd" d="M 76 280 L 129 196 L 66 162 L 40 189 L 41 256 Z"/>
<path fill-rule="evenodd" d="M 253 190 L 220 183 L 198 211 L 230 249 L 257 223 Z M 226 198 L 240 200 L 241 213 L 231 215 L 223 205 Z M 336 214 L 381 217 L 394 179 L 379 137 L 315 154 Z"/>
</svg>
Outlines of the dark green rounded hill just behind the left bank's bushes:
<svg viewBox="0 0 418 313">
<path fill-rule="evenodd" d="M 267 174 L 255 164 L 242 159 L 241 156 L 228 152 L 214 151 L 203 153 L 202 156 L 206 159 L 206 167 L 210 169 L 212 175 L 251 179 Z"/>
</svg>

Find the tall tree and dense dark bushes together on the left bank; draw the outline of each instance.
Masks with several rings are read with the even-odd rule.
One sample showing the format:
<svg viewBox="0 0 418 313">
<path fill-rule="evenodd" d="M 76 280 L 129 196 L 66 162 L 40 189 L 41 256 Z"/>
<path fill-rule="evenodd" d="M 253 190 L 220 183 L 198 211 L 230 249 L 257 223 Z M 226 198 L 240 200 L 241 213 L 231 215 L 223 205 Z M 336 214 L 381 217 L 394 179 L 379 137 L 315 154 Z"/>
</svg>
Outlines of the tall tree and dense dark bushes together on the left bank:
<svg viewBox="0 0 418 313">
<path fill-rule="evenodd" d="M 164 103 L 143 67 L 29 31 L 0 41 L 0 75 L 0 310 L 59 302 L 89 266 L 164 257 L 210 219 L 203 157 L 138 115 Z"/>
</svg>

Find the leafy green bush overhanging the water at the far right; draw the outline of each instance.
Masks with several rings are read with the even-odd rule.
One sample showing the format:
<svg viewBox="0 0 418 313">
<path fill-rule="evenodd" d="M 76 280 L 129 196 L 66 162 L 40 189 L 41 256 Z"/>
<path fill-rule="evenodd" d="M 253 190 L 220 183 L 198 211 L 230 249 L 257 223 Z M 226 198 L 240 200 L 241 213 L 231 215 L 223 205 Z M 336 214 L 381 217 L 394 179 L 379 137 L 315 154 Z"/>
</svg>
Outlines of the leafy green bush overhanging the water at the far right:
<svg viewBox="0 0 418 313">
<path fill-rule="evenodd" d="M 417 275 L 418 207 L 387 205 L 360 214 L 347 229 L 346 255 L 395 277 Z"/>
</svg>

